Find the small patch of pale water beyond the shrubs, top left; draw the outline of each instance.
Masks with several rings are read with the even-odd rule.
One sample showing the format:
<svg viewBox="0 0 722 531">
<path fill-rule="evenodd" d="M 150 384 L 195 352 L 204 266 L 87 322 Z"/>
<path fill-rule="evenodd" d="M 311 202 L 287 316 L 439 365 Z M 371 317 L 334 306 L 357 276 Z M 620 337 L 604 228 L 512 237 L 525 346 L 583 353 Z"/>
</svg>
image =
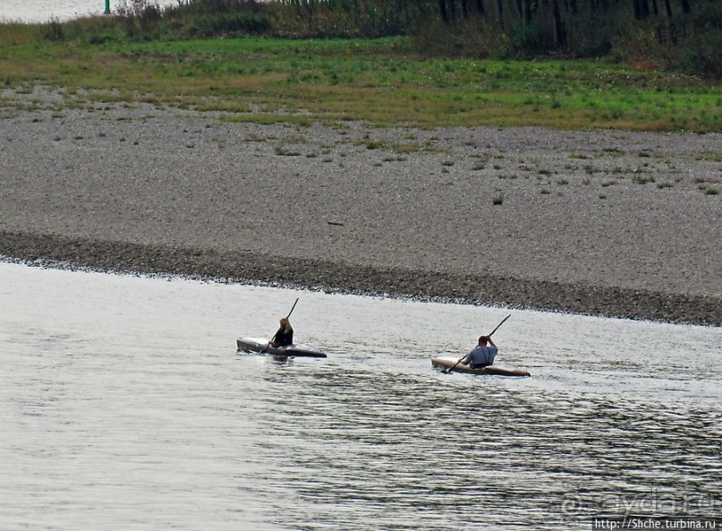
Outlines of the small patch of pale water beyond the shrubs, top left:
<svg viewBox="0 0 722 531">
<path fill-rule="evenodd" d="M 131 0 L 110 0 L 110 12 Z M 151 0 L 161 7 L 177 5 L 177 0 Z M 103 14 L 106 0 L 0 0 L 0 21 L 47 22 L 51 19 L 68 21 L 87 15 Z"/>
</svg>

